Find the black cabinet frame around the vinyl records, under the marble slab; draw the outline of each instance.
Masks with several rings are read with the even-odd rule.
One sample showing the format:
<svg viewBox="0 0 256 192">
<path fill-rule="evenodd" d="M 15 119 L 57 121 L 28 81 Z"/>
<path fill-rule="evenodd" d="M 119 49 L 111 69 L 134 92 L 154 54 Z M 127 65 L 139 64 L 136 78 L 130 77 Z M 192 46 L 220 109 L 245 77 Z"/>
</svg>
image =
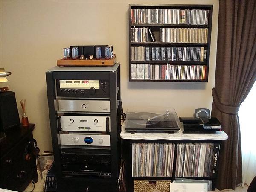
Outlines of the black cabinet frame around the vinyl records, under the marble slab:
<svg viewBox="0 0 256 192">
<path fill-rule="evenodd" d="M 174 144 L 174 158 L 172 162 L 172 176 L 171 177 L 162 177 L 162 176 L 147 176 L 147 177 L 134 177 L 133 174 L 133 144 L 134 143 L 157 143 L 157 144 Z M 128 150 L 123 151 L 123 159 L 125 161 L 125 172 L 126 172 L 126 188 L 127 191 L 134 191 L 134 180 L 148 180 L 148 181 L 156 181 L 156 180 L 174 180 L 175 178 L 187 178 L 187 179 L 198 179 L 198 180 L 212 180 L 212 190 L 215 190 L 216 187 L 216 180 L 217 180 L 217 173 L 218 173 L 218 159 L 219 159 L 219 151 L 217 154 L 217 161 L 212 161 L 211 168 L 213 169 L 214 163 L 215 172 L 214 174 L 211 173 L 209 177 L 176 177 L 176 161 L 177 161 L 177 146 L 179 143 L 215 143 L 219 145 L 219 150 L 221 148 L 221 140 L 123 140 L 123 148 Z M 215 152 L 215 151 L 214 151 Z M 213 157 L 214 158 L 214 157 Z M 147 169 L 147 168 L 145 168 Z M 212 171 L 212 170 L 211 170 Z"/>
</svg>

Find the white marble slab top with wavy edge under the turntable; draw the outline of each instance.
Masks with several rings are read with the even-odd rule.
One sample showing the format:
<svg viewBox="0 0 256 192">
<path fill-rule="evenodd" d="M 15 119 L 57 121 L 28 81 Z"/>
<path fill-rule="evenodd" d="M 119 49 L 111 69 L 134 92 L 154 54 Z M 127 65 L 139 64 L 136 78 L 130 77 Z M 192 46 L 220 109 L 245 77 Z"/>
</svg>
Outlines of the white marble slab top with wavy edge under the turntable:
<svg viewBox="0 0 256 192">
<path fill-rule="evenodd" d="M 122 125 L 121 138 L 125 140 L 227 140 L 224 131 L 216 131 L 215 134 L 183 134 L 181 130 L 174 134 L 168 133 L 129 133 L 125 131 L 125 123 Z"/>
</svg>

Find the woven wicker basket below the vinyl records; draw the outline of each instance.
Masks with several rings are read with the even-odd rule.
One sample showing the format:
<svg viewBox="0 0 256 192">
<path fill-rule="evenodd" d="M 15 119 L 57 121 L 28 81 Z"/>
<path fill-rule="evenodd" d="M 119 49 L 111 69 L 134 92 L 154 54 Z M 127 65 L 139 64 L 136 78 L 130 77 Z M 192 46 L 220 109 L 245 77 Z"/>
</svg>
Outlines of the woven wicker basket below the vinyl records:
<svg viewBox="0 0 256 192">
<path fill-rule="evenodd" d="M 134 192 L 151 192 L 152 189 L 169 192 L 170 183 L 170 180 L 134 180 Z"/>
</svg>

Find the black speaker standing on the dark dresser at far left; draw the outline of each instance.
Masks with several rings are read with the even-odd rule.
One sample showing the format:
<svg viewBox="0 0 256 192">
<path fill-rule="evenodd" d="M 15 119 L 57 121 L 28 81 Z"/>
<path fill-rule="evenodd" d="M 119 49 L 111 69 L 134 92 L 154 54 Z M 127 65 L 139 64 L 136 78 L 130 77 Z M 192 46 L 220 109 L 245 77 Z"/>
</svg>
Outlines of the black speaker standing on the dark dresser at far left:
<svg viewBox="0 0 256 192">
<path fill-rule="evenodd" d="M 12 91 L 1 92 L 0 104 L 1 130 L 6 131 L 9 128 L 20 125 L 20 117 L 15 99 L 15 93 Z"/>
</svg>

